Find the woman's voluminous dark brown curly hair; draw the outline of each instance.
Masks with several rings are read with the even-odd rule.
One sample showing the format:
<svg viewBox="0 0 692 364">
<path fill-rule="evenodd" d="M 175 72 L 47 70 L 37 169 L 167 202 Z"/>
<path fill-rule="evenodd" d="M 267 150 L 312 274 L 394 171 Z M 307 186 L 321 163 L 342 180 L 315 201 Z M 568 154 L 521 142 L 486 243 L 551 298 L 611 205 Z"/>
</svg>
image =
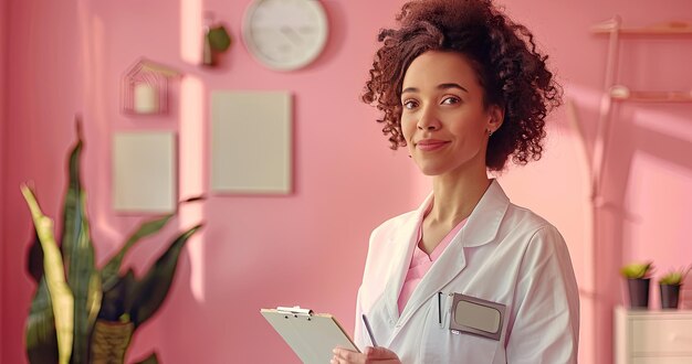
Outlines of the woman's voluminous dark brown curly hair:
<svg viewBox="0 0 692 364">
<path fill-rule="evenodd" d="M 483 104 L 504 110 L 490 138 L 485 164 L 500 171 L 506 160 L 526 164 L 543 153 L 545 118 L 562 104 L 562 87 L 536 50 L 534 35 L 499 11 L 492 0 L 415 0 L 397 15 L 398 29 L 382 29 L 363 101 L 384 115 L 378 122 L 391 149 L 405 147 L 401 85 L 411 62 L 428 51 L 459 52 L 474 68 Z"/>
</svg>

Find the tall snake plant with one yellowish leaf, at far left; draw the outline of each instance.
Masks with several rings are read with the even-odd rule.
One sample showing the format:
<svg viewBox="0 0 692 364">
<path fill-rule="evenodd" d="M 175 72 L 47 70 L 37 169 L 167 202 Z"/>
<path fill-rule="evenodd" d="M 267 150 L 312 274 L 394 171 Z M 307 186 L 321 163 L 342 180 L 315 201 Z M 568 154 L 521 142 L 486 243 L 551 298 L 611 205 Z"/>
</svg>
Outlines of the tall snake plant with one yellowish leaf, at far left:
<svg viewBox="0 0 692 364">
<path fill-rule="evenodd" d="M 123 258 L 141 238 L 164 228 L 175 214 L 144 222 L 103 268 L 96 267 L 80 179 L 83 138 L 78 120 L 76 125 L 60 244 L 53 222 L 41 211 L 32 189 L 21 186 L 35 228 L 28 270 L 38 285 L 27 319 L 27 355 L 31 363 L 124 363 L 133 332 L 166 299 L 178 257 L 201 224 L 179 234 L 141 278 L 132 269 L 120 274 Z M 184 202 L 195 200 L 199 199 Z M 157 362 L 153 353 L 141 363 Z"/>
</svg>

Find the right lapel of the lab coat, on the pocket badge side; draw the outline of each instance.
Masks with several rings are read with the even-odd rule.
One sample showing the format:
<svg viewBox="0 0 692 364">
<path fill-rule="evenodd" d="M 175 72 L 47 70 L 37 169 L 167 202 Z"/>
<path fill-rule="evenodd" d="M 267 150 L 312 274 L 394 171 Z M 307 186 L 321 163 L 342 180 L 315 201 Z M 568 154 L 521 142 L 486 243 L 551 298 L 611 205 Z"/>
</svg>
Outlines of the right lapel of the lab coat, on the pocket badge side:
<svg viewBox="0 0 692 364">
<path fill-rule="evenodd" d="M 401 329 L 426 302 L 434 295 L 444 291 L 444 286 L 457 278 L 466 266 L 464 248 L 476 247 L 491 243 L 497 235 L 500 223 L 504 217 L 510 200 L 500 184 L 493 180 L 469 216 L 464 227 L 449 244 L 439 259 L 430 267 L 422 278 L 409 302 L 407 303 L 399 324 Z M 407 266 L 408 268 L 408 266 Z M 450 293 L 450 292 L 445 292 Z M 395 335 L 398 330 L 395 331 Z M 394 340 L 394 338 L 392 338 Z"/>
</svg>

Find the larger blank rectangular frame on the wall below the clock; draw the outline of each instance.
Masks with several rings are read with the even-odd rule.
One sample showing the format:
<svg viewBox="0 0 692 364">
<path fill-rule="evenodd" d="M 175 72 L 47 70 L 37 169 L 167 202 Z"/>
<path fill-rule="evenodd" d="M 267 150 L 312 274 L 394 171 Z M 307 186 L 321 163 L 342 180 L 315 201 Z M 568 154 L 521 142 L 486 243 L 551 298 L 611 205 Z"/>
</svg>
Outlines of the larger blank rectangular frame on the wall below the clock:
<svg viewBox="0 0 692 364">
<path fill-rule="evenodd" d="M 211 191 L 290 194 L 292 113 L 289 92 L 213 92 Z"/>
</svg>

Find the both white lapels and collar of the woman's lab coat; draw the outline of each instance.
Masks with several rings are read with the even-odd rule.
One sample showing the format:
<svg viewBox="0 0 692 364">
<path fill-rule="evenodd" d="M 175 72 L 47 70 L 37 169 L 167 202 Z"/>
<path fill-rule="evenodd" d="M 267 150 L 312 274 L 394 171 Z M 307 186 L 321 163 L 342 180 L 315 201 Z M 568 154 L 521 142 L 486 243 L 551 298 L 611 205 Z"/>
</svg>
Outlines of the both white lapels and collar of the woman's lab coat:
<svg viewBox="0 0 692 364">
<path fill-rule="evenodd" d="M 426 208 L 432 200 L 430 194 L 408 220 L 403 222 L 399 233 L 395 238 L 397 242 L 408 242 L 407 245 L 399 244 L 394 251 L 392 278 L 387 285 L 385 292 L 387 310 L 390 318 L 397 321 L 390 342 L 394 341 L 413 313 L 420 309 L 432 296 L 443 291 L 444 286 L 452 281 L 466 266 L 464 248 L 478 247 L 491 243 L 497 235 L 500 223 L 504 217 L 510 199 L 506 196 L 496 180 L 493 180 L 469 216 L 469 221 L 459 234 L 452 239 L 439 259 L 430 267 L 428 274 L 422 278 L 413 293 L 411 295 L 401 317 L 399 318 L 398 299 L 403 280 L 410 266 L 411 256 L 416 248 L 418 237 L 418 226 L 423 218 Z M 449 292 L 447 292 L 449 293 Z"/>
</svg>

